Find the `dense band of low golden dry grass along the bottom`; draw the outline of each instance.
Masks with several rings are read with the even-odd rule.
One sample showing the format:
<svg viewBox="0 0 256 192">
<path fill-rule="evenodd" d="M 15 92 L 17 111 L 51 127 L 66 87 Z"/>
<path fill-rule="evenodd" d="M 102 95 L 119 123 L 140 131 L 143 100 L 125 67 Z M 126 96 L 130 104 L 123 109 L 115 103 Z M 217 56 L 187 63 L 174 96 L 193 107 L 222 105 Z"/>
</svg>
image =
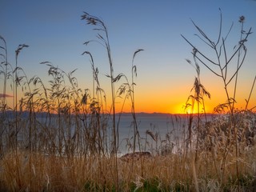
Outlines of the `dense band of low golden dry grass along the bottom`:
<svg viewBox="0 0 256 192">
<path fill-rule="evenodd" d="M 114 183 L 114 159 L 98 156 L 58 157 L 20 151 L 5 154 L 0 183 L 6 191 L 194 191 L 194 154 L 156 155 L 134 162 L 118 159 L 119 189 Z M 234 154 L 226 159 L 222 183 L 222 156 L 214 163 L 209 151 L 198 153 L 198 190 L 254 191 L 256 147 L 239 157 L 240 181 L 236 177 Z"/>
</svg>

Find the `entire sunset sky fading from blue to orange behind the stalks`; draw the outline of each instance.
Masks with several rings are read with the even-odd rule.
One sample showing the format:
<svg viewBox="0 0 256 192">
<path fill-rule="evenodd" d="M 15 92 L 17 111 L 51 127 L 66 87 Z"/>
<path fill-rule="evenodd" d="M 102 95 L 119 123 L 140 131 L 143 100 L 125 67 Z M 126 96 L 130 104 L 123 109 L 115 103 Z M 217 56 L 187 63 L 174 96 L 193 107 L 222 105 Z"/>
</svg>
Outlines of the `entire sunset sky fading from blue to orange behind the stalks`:
<svg viewBox="0 0 256 192">
<path fill-rule="evenodd" d="M 205 50 L 210 58 L 216 58 L 194 35 L 198 34 L 198 30 L 191 21 L 216 42 L 220 22 L 219 8 L 222 10 L 224 37 L 234 22 L 226 42 L 227 53 L 231 55 L 240 39 L 239 17 L 243 15 L 246 18 L 245 30 L 252 27 L 254 32 L 256 29 L 254 0 L 0 0 L 0 35 L 6 40 L 8 62 L 13 66 L 18 45 L 29 45 L 18 56 L 18 66 L 22 67 L 29 78 L 38 75 L 47 83 L 50 80 L 48 68 L 39 65 L 40 62 L 47 61 L 66 72 L 78 69 L 74 76 L 78 78 L 78 86 L 82 90 L 92 89 L 90 58 L 82 55 L 84 51 L 90 51 L 99 70 L 101 86 L 110 99 L 110 79 L 106 78 L 106 74 L 110 74 L 110 67 L 106 50 L 98 43 L 83 45 L 86 41 L 97 39 L 97 32 L 93 27 L 81 20 L 83 11 L 86 11 L 101 18 L 107 26 L 115 75 L 126 74 L 130 79 L 134 51 L 143 49 L 134 59 L 138 73 L 134 79 L 135 110 L 182 113 L 188 96 L 193 94 L 190 90 L 197 74 L 193 66 L 186 62 L 186 59 L 193 61 L 192 47 L 181 34 L 194 43 L 198 50 Z M 250 34 L 246 42 L 246 60 L 238 76 L 236 106 L 241 109 L 246 105 L 245 99 L 250 94 L 256 74 L 255 35 Z M 0 43 L 2 46 L 2 42 Z M 232 65 L 230 70 L 235 69 L 236 62 Z M 211 94 L 211 98 L 205 100 L 206 112 L 210 113 L 214 106 L 226 102 L 226 94 L 221 78 L 216 77 L 205 66 L 200 65 L 200 69 L 201 83 Z M 2 76 L 0 81 L 2 97 Z M 7 102 L 11 105 L 12 90 L 8 88 L 6 94 L 10 96 Z M 121 106 L 120 99 L 116 102 L 117 106 Z M 110 106 L 110 102 L 108 105 Z M 256 106 L 256 88 L 250 100 L 250 107 L 253 106 Z M 130 111 L 129 102 L 125 111 Z"/>
</svg>

